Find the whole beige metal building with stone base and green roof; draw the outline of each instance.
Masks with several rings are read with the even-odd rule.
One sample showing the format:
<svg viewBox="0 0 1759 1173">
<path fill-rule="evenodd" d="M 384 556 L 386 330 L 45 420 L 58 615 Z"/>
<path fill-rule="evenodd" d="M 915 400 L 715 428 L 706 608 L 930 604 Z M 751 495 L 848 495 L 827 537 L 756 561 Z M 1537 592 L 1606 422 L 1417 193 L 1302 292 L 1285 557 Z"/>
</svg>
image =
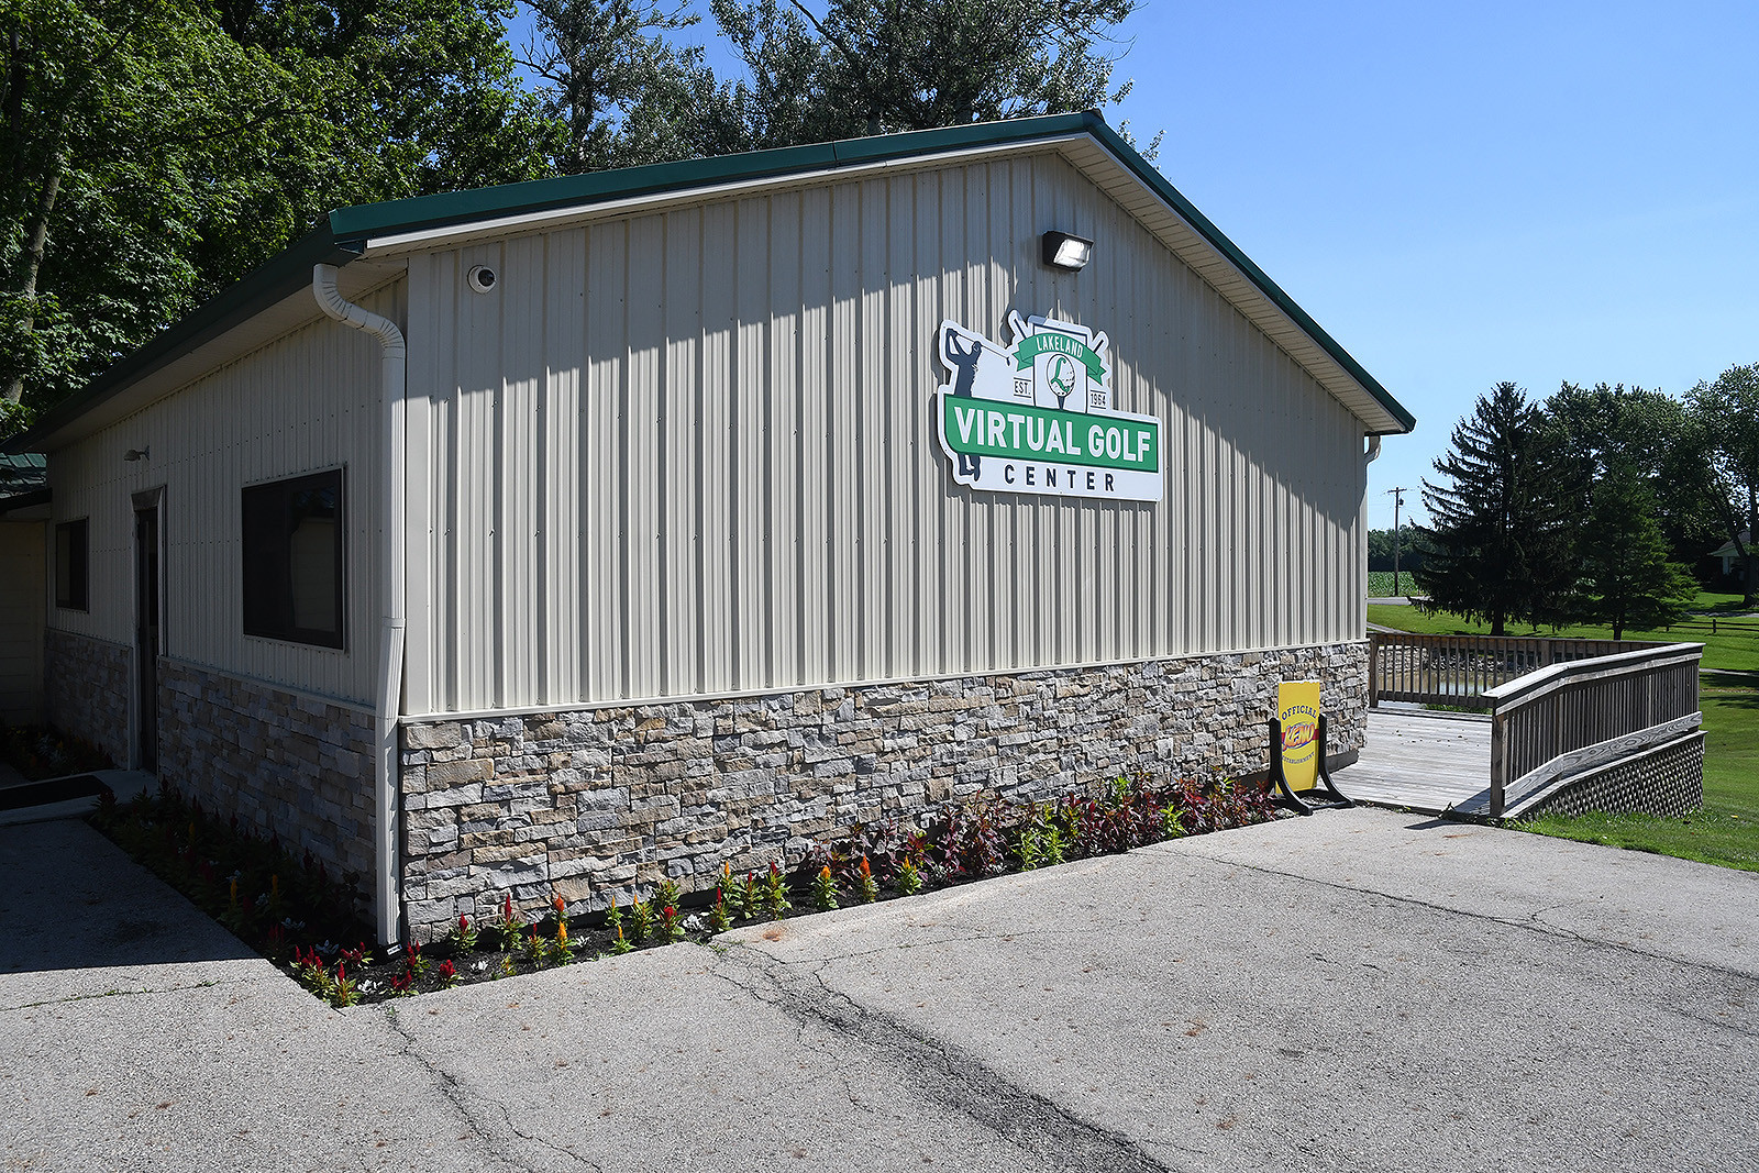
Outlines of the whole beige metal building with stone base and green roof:
<svg viewBox="0 0 1759 1173">
<path fill-rule="evenodd" d="M 1411 427 L 1069 114 L 347 208 L 9 450 L 49 718 L 390 939 L 1249 772 L 1282 677 L 1351 751 Z"/>
</svg>

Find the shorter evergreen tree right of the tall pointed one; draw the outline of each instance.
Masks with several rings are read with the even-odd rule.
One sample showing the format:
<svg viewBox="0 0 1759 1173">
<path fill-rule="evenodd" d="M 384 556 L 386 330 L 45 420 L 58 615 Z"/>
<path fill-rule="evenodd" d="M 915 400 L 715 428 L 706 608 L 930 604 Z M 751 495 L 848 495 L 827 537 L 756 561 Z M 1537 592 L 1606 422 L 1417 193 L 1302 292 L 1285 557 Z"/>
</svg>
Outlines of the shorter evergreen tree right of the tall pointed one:
<svg viewBox="0 0 1759 1173">
<path fill-rule="evenodd" d="M 1609 470 L 1594 487 L 1581 535 L 1581 616 L 1613 628 L 1666 628 L 1685 616 L 1697 582 L 1668 561 L 1655 498 L 1632 468 Z"/>
</svg>

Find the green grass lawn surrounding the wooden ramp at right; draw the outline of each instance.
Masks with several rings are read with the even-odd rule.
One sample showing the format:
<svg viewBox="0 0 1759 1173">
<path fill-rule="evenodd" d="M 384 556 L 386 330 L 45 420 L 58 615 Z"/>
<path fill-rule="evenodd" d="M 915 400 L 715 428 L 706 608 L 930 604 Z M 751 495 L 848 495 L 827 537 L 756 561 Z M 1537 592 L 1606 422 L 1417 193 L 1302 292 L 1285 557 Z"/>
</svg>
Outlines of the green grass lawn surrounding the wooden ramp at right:
<svg viewBox="0 0 1759 1173">
<path fill-rule="evenodd" d="M 1485 631 L 1485 624 L 1469 624 L 1458 616 L 1423 616 L 1414 607 L 1370 607 L 1369 623 L 1441 635 Z M 1611 638 L 1606 628 L 1585 626 L 1530 635 Z M 1666 631 L 1627 631 L 1625 638 L 1680 637 Z M 1687 638 L 1704 644 L 1706 668 L 1747 674 L 1703 679 L 1699 707 L 1704 712 L 1704 807 L 1675 820 L 1648 814 L 1541 816 L 1514 827 L 1580 842 L 1759 871 L 1759 635 L 1719 633 Z"/>
</svg>

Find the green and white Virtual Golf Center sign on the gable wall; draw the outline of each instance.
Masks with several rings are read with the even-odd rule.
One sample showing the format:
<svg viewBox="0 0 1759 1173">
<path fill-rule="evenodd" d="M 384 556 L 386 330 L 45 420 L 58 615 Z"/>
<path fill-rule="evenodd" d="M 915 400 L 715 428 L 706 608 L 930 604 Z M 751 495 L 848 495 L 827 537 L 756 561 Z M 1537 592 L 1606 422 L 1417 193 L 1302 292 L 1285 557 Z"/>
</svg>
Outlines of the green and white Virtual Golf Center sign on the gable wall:
<svg viewBox="0 0 1759 1173">
<path fill-rule="evenodd" d="M 934 394 L 953 480 L 994 492 L 1161 499 L 1161 420 L 1112 410 L 1106 336 L 1008 315 L 1011 346 L 941 322 Z"/>
</svg>

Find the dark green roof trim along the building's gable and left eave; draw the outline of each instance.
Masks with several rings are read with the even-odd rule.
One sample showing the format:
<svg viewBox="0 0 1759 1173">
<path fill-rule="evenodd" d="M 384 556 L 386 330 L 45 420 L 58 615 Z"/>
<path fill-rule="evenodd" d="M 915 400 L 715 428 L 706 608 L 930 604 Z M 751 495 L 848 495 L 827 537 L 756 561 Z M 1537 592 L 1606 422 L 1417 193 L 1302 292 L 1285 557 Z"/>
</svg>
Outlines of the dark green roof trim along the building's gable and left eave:
<svg viewBox="0 0 1759 1173">
<path fill-rule="evenodd" d="M 1168 183 L 1135 148 L 1124 142 L 1098 111 L 1084 111 L 1078 114 L 1045 114 L 1040 118 L 1017 118 L 969 127 L 945 127 L 939 130 L 906 130 L 867 139 L 814 142 L 809 146 L 691 158 L 674 164 L 649 164 L 646 167 L 598 171 L 584 176 L 533 179 L 529 183 L 510 183 L 471 192 L 415 195 L 382 204 L 338 208 L 304 239 L 290 244 L 278 257 L 245 276 L 223 294 L 193 310 L 158 338 L 116 362 L 104 375 L 86 383 L 83 390 L 46 412 L 30 431 L 0 445 L 0 452 L 28 452 L 32 445 L 65 427 L 104 399 L 121 392 L 135 380 L 299 292 L 299 288 L 311 283 L 311 266 L 347 264 L 361 255 L 368 241 L 375 237 L 563 208 L 589 208 L 593 204 L 661 192 L 688 192 L 691 188 L 746 183 L 813 171 L 836 171 L 839 167 L 916 158 L 964 148 L 1008 146 L 1073 134 L 1091 134 L 1099 141 L 1131 174 L 1166 200 L 1217 251 L 1233 262 L 1265 297 L 1289 315 L 1393 419 L 1404 424 L 1405 431 L 1416 427 L 1416 417 L 1393 399 L 1305 310 L 1295 304 L 1295 299 L 1282 292 L 1263 269 L 1252 264 L 1221 229 L 1210 223 L 1208 216 L 1200 213 L 1191 200 L 1179 193 L 1179 188 Z"/>
</svg>

